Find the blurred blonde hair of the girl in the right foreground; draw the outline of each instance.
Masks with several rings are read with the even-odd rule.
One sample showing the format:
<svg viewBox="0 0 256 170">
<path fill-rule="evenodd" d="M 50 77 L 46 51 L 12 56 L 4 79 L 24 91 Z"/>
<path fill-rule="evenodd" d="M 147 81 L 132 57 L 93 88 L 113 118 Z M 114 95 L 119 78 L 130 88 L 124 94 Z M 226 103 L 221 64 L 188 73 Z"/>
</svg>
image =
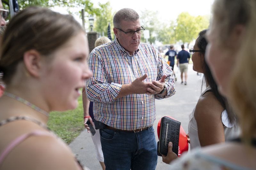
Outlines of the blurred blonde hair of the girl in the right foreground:
<svg viewBox="0 0 256 170">
<path fill-rule="evenodd" d="M 236 25 L 245 28 L 237 57 L 234 56 L 236 64 L 228 93 L 239 117 L 242 136 L 249 142 L 256 131 L 256 1 L 216 0 L 213 13 L 220 26 L 221 31 L 217 36 L 221 44 L 227 42 Z"/>
</svg>

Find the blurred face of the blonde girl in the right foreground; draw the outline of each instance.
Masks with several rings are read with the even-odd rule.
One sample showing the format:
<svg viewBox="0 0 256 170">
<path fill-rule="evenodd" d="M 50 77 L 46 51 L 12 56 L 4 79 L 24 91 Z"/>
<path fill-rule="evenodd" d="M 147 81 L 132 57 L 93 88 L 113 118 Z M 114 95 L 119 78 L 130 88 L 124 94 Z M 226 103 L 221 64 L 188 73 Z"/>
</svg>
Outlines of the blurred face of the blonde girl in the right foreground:
<svg viewBox="0 0 256 170">
<path fill-rule="evenodd" d="M 219 91 L 222 95 L 227 96 L 228 82 L 230 81 L 230 75 L 234 68 L 236 50 L 219 45 L 217 36 L 219 35 L 219 31 L 218 23 L 213 20 L 207 32 L 208 44 L 205 58 Z"/>
</svg>

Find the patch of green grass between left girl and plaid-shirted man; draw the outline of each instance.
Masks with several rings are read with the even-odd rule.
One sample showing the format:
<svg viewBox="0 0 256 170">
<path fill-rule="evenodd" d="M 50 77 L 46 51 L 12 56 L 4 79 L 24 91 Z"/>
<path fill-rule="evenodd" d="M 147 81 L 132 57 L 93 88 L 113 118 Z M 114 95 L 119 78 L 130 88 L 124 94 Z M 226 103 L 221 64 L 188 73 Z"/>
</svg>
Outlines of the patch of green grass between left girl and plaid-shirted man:
<svg viewBox="0 0 256 170">
<path fill-rule="evenodd" d="M 84 111 L 82 96 L 78 99 L 78 107 L 65 112 L 51 112 L 48 127 L 70 144 L 84 130 Z"/>
</svg>

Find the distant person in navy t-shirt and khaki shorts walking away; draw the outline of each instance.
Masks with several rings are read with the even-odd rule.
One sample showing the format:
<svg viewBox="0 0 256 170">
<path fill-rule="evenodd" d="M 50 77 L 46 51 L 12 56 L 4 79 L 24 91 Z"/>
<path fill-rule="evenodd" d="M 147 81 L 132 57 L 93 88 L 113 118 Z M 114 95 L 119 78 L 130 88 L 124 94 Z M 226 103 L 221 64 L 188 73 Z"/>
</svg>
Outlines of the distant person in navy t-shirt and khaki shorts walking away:
<svg viewBox="0 0 256 170">
<path fill-rule="evenodd" d="M 185 74 L 185 83 L 187 85 L 187 78 L 188 78 L 188 62 L 190 59 L 190 54 L 188 51 L 184 50 L 184 45 L 181 45 L 182 50 L 177 55 L 177 67 L 180 65 L 180 78 L 181 84 L 183 84 L 183 73 Z"/>
</svg>

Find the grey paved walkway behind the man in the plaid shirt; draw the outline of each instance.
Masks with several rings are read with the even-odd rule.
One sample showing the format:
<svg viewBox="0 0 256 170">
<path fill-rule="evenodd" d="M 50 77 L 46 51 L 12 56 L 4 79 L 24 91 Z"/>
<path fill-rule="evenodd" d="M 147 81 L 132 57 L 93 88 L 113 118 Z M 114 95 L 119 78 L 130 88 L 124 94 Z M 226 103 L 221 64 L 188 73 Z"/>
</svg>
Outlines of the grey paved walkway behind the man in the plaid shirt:
<svg viewBox="0 0 256 170">
<path fill-rule="evenodd" d="M 156 121 L 154 122 L 154 129 L 156 134 L 156 141 L 158 141 L 156 127 L 160 118 L 164 115 L 171 115 L 181 122 L 181 126 L 188 133 L 188 115 L 196 106 L 196 102 L 201 94 L 202 75 L 197 76 L 192 69 L 192 64 L 188 66 L 188 81 L 187 85 L 181 85 L 180 71 L 174 66 L 176 71 L 176 94 L 164 100 L 156 100 Z M 204 87 L 203 87 L 204 88 Z M 91 170 L 100 170 L 101 166 L 96 159 L 95 148 L 92 142 L 92 137 L 87 130 L 69 144 L 72 151 L 76 154 L 77 159 L 81 161 L 84 166 Z M 158 157 L 156 170 L 167 169 L 169 165 L 162 162 L 162 157 Z"/>
</svg>

